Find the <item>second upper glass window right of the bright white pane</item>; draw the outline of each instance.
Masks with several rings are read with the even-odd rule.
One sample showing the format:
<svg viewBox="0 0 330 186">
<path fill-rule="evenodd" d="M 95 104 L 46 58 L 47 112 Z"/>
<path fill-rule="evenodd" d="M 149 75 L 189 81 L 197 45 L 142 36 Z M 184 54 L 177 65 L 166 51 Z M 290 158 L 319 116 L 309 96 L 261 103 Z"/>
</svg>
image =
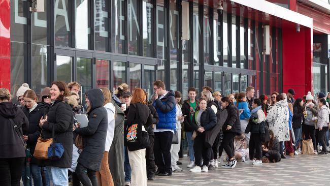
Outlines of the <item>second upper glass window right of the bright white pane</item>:
<svg viewBox="0 0 330 186">
<path fill-rule="evenodd" d="M 124 0 L 112 1 L 112 52 L 114 53 L 125 53 L 125 12 Z"/>
</svg>

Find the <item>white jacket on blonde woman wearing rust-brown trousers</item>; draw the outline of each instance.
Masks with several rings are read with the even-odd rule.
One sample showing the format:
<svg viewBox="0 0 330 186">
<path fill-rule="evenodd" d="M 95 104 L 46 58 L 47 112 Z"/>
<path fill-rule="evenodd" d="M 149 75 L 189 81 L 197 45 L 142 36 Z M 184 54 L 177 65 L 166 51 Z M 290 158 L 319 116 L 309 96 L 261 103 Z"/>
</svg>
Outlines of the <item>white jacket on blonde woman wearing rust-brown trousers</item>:
<svg viewBox="0 0 330 186">
<path fill-rule="evenodd" d="M 105 151 L 109 152 L 110 146 L 113 140 L 115 132 L 115 106 L 112 103 L 107 103 L 104 108 L 106 108 L 108 113 L 108 131 L 106 139 L 106 148 Z"/>
</svg>

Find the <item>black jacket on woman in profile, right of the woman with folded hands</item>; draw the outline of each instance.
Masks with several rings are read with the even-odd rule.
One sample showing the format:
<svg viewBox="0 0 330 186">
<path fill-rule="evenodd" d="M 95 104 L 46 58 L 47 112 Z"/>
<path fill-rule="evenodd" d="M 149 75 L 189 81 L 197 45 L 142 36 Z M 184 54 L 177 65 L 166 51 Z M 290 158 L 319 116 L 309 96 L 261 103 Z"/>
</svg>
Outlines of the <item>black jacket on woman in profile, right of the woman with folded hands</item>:
<svg viewBox="0 0 330 186">
<path fill-rule="evenodd" d="M 224 125 L 222 126 L 223 133 L 232 132 L 236 135 L 241 135 L 241 120 L 237 107 L 233 105 L 233 103 L 230 103 L 226 109 L 228 112 L 228 116 L 226 121 L 224 122 Z M 232 126 L 232 129 L 227 131 L 226 129 L 228 125 Z"/>
</svg>

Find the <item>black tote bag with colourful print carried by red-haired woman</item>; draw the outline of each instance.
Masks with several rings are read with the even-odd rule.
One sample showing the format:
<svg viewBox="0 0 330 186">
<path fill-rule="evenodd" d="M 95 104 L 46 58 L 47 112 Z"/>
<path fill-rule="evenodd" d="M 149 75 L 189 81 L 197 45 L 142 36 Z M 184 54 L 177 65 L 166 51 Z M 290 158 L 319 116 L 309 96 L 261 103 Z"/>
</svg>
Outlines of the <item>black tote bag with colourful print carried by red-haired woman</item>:
<svg viewBox="0 0 330 186">
<path fill-rule="evenodd" d="M 131 104 L 135 106 L 135 104 Z M 149 135 L 140 119 L 139 109 L 137 108 L 137 115 L 139 118 L 137 122 L 126 127 L 124 135 L 124 145 L 127 146 L 129 151 L 140 150 L 150 147 Z"/>
</svg>

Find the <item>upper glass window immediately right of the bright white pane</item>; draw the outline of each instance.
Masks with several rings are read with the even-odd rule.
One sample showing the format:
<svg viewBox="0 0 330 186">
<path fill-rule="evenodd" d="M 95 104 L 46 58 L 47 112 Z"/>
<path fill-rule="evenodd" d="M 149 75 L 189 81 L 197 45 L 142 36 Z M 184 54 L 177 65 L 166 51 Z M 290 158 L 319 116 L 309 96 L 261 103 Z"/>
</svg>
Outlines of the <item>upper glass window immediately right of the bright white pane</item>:
<svg viewBox="0 0 330 186">
<path fill-rule="evenodd" d="M 94 0 L 94 43 L 95 50 L 110 51 L 109 46 L 109 4 L 110 1 Z"/>
</svg>

